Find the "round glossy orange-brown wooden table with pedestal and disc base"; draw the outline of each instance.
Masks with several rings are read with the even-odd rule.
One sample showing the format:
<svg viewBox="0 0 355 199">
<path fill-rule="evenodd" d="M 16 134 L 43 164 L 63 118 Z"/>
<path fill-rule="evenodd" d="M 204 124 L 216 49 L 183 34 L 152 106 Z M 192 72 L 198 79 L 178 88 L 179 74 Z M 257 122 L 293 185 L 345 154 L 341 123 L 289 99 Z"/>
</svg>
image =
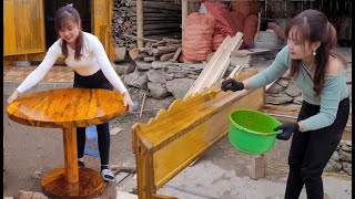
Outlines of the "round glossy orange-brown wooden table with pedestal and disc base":
<svg viewBox="0 0 355 199">
<path fill-rule="evenodd" d="M 78 168 L 77 127 L 98 125 L 123 115 L 123 95 L 101 88 L 58 88 L 27 94 L 7 107 L 16 123 L 63 129 L 64 168 L 43 176 L 49 198 L 94 198 L 103 191 L 99 171 Z"/>
</svg>

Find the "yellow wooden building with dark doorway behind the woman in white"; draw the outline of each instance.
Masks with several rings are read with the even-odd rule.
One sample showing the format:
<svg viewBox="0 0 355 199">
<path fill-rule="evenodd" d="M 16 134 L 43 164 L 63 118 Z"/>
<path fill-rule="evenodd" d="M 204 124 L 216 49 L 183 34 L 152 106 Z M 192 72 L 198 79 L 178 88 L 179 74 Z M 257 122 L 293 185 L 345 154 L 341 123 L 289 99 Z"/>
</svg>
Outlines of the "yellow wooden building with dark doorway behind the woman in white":
<svg viewBox="0 0 355 199">
<path fill-rule="evenodd" d="M 83 31 L 97 35 L 113 60 L 111 15 L 113 0 L 4 0 L 3 61 L 41 61 L 48 48 L 59 38 L 54 30 L 55 11 L 73 3 L 82 18 Z"/>
</svg>

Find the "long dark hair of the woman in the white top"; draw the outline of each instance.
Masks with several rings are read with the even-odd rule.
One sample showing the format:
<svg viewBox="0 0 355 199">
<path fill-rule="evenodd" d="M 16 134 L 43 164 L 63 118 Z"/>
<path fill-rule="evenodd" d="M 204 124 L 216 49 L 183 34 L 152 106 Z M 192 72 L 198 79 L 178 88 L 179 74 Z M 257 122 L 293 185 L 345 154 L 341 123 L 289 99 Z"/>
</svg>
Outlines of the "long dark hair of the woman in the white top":
<svg viewBox="0 0 355 199">
<path fill-rule="evenodd" d="M 58 34 L 59 34 L 59 30 L 65 25 L 65 22 L 68 20 L 72 20 L 73 22 L 75 22 L 79 29 L 81 29 L 81 19 L 80 19 L 79 12 L 72 6 L 67 4 L 58 9 L 55 14 L 54 27 Z M 82 31 L 79 31 L 79 35 L 77 38 L 77 43 L 75 43 L 75 55 L 74 55 L 75 60 L 80 60 L 80 57 L 82 56 L 80 54 L 82 49 L 82 43 L 83 43 Z M 65 40 L 63 40 L 63 43 L 62 43 L 62 54 L 64 55 L 64 59 L 68 57 L 68 48 L 67 48 Z"/>
</svg>

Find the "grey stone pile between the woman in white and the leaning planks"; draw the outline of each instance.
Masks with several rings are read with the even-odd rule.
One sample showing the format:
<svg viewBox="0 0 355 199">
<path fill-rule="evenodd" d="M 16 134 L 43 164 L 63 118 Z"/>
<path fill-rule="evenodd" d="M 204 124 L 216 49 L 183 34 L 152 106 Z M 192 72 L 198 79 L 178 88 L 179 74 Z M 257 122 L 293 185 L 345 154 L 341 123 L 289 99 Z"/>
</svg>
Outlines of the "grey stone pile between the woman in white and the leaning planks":
<svg viewBox="0 0 355 199">
<path fill-rule="evenodd" d="M 186 64 L 161 61 L 135 62 L 135 70 L 123 76 L 124 84 L 145 90 L 148 95 L 154 98 L 164 98 L 170 95 L 183 98 L 205 66 L 205 63 Z"/>
</svg>

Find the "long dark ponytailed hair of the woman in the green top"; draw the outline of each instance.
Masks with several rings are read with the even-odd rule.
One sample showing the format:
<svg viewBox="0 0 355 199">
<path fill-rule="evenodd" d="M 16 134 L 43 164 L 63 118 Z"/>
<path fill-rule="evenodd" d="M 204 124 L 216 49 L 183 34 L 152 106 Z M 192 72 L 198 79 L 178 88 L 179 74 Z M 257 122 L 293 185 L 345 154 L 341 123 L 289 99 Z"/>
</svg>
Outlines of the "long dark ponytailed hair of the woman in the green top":
<svg viewBox="0 0 355 199">
<path fill-rule="evenodd" d="M 326 15 L 317 10 L 305 10 L 293 18 L 285 29 L 285 35 L 288 36 L 288 32 L 292 28 L 295 29 L 295 34 L 301 39 L 301 43 L 305 46 L 305 42 L 321 42 L 320 48 L 315 54 L 315 73 L 314 73 L 314 87 L 316 96 L 322 93 L 324 86 L 325 66 L 328 62 L 329 54 L 336 57 L 343 59 L 331 51 L 336 45 L 336 30 L 334 25 L 328 22 Z M 292 60 L 290 77 L 297 76 L 300 73 L 301 60 Z"/>
</svg>

